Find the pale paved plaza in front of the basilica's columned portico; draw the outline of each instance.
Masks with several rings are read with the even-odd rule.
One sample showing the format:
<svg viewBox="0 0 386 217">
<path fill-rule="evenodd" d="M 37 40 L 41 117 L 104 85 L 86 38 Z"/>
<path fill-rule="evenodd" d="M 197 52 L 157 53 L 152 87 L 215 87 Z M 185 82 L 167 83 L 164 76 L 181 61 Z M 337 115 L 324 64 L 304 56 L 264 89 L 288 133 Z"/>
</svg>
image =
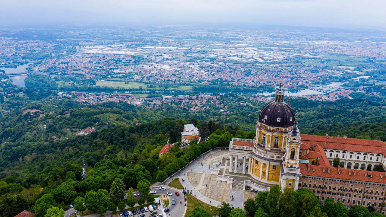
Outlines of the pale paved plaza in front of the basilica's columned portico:
<svg viewBox="0 0 386 217">
<path fill-rule="evenodd" d="M 244 179 L 252 180 L 249 175 L 240 174 L 244 166 L 243 159 L 239 159 L 239 164 L 237 164 L 239 173 L 229 173 L 227 169 L 230 163 L 229 158 L 228 150 L 212 150 L 188 164 L 175 177 L 183 183 L 185 190 L 192 190 L 192 194 L 205 203 L 220 206 L 225 201 L 234 208 L 244 209 L 245 200 L 254 198 L 257 194 L 243 190 Z M 232 189 L 227 181 L 217 180 L 218 175 L 233 178 Z"/>
</svg>

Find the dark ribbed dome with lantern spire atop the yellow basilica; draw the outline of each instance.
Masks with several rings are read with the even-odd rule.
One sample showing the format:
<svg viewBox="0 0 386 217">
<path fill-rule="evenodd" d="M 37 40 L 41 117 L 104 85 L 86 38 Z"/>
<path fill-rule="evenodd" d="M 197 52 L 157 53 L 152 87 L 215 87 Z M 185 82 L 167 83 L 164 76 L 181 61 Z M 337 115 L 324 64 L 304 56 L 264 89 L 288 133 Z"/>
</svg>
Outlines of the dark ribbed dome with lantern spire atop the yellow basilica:
<svg viewBox="0 0 386 217">
<path fill-rule="evenodd" d="M 270 127 L 290 127 L 294 125 L 294 121 L 295 112 L 289 104 L 284 102 L 284 89 L 280 83 L 276 90 L 275 100 L 262 108 L 259 122 Z"/>
</svg>

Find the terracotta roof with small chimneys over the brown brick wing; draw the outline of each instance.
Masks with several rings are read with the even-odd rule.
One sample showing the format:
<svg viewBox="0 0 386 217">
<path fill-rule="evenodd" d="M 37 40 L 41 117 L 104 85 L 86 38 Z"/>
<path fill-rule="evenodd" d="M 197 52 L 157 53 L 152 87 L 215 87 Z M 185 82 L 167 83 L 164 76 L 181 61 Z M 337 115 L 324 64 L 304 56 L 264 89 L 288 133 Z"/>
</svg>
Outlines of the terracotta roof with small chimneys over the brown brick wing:
<svg viewBox="0 0 386 217">
<path fill-rule="evenodd" d="M 310 167 L 309 171 L 308 167 Z M 317 166 L 305 163 L 300 163 L 299 168 L 300 173 L 305 176 L 386 183 L 386 173 L 384 172 L 339 168 L 339 173 L 338 168 L 335 167 Z M 325 168 L 324 173 L 323 168 Z M 328 173 L 328 169 L 330 170 L 330 173 Z"/>
</svg>

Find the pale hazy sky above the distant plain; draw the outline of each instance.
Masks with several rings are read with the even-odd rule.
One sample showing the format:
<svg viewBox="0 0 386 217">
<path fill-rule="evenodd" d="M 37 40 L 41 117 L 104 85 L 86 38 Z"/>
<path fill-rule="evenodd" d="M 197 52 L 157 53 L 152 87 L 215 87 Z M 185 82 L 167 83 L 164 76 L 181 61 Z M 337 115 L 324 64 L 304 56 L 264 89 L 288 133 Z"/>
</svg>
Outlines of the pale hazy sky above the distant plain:
<svg viewBox="0 0 386 217">
<path fill-rule="evenodd" d="M 382 27 L 386 0 L 0 0 L 0 25 L 248 23 Z"/>
</svg>

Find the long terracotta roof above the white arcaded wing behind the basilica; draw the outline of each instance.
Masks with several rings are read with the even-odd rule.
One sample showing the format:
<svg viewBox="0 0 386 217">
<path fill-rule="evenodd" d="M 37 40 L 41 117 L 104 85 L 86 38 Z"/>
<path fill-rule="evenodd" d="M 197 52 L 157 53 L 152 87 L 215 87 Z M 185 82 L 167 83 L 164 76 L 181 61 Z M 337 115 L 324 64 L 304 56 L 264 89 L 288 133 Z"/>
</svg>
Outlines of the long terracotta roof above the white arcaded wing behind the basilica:
<svg viewBox="0 0 386 217">
<path fill-rule="evenodd" d="M 386 143 L 370 139 L 352 139 L 344 137 L 315 136 L 301 134 L 301 141 L 310 144 L 310 146 L 320 145 L 323 149 L 337 149 L 343 151 L 359 151 L 373 153 L 386 153 Z M 386 155 L 386 154 L 385 154 Z"/>
</svg>

